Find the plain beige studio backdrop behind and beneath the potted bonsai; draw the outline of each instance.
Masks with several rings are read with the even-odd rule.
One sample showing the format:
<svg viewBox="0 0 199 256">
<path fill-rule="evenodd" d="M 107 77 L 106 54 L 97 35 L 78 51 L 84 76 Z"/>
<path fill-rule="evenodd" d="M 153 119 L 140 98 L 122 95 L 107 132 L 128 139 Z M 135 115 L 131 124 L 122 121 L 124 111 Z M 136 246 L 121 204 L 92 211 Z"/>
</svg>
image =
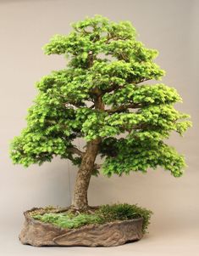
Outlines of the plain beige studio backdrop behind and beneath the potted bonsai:
<svg viewBox="0 0 199 256">
<path fill-rule="evenodd" d="M 45 56 L 41 47 L 53 34 L 67 34 L 70 22 L 93 14 L 132 21 L 140 40 L 159 50 L 157 63 L 167 71 L 163 82 L 178 89 L 184 104 L 176 107 L 194 122 L 184 139 L 174 134 L 169 142 L 185 154 L 189 167 L 180 179 L 162 169 L 91 179 L 91 204 L 137 202 L 152 209 L 150 233 L 141 242 L 113 248 L 25 247 L 17 237 L 22 212 L 69 205 L 76 170 L 58 158 L 41 167 L 14 166 L 8 144 L 25 127 L 34 82 L 65 65 L 64 58 Z M 191 0 L 0 0 L 0 255 L 199 255 L 198 17 L 199 1 Z"/>
</svg>

